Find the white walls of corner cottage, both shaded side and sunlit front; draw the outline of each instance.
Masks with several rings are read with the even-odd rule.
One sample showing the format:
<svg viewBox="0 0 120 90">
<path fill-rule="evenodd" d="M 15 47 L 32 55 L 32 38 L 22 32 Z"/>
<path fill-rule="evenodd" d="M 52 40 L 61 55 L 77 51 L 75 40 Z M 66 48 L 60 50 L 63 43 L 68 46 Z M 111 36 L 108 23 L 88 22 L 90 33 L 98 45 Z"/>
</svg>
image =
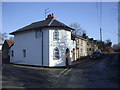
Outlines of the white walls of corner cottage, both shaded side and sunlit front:
<svg viewBox="0 0 120 90">
<path fill-rule="evenodd" d="M 53 41 L 53 29 L 43 29 L 43 66 L 66 66 L 66 49 L 69 49 L 69 65 L 71 65 L 73 48 L 76 42 L 71 40 L 71 32 L 59 29 L 59 41 Z M 35 38 L 35 31 L 16 34 L 14 37 L 14 57 L 10 56 L 10 62 L 15 64 L 42 66 L 42 35 Z M 53 50 L 58 47 L 60 59 L 53 59 Z M 26 57 L 23 57 L 23 49 L 26 50 Z M 76 55 L 75 55 L 76 56 Z M 76 57 L 75 57 L 76 58 Z"/>
</svg>

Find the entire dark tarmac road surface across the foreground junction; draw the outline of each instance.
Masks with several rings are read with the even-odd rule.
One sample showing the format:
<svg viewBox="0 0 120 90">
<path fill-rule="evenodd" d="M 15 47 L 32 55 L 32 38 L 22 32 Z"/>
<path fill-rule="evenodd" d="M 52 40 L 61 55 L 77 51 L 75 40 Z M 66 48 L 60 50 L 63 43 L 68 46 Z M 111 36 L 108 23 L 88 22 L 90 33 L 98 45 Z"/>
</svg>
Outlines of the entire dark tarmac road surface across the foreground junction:
<svg viewBox="0 0 120 90">
<path fill-rule="evenodd" d="M 71 68 L 3 65 L 3 88 L 118 88 L 119 54 L 102 59 L 78 61 Z"/>
</svg>

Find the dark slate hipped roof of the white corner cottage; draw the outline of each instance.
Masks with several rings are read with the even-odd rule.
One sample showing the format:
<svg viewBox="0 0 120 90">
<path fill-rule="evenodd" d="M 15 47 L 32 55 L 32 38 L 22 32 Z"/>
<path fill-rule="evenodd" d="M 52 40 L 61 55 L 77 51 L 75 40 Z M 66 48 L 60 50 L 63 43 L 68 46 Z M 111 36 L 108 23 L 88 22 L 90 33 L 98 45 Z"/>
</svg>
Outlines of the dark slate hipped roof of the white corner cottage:
<svg viewBox="0 0 120 90">
<path fill-rule="evenodd" d="M 64 28 L 68 31 L 74 30 L 73 28 L 70 28 L 67 25 L 63 24 L 62 22 L 51 17 L 51 18 L 47 18 L 43 21 L 34 22 L 34 23 L 32 23 L 28 26 L 25 26 L 21 29 L 18 29 L 10 34 L 14 35 L 14 34 L 19 33 L 19 32 L 34 30 L 34 29 L 43 28 L 43 27 L 61 27 L 61 28 Z"/>
</svg>

